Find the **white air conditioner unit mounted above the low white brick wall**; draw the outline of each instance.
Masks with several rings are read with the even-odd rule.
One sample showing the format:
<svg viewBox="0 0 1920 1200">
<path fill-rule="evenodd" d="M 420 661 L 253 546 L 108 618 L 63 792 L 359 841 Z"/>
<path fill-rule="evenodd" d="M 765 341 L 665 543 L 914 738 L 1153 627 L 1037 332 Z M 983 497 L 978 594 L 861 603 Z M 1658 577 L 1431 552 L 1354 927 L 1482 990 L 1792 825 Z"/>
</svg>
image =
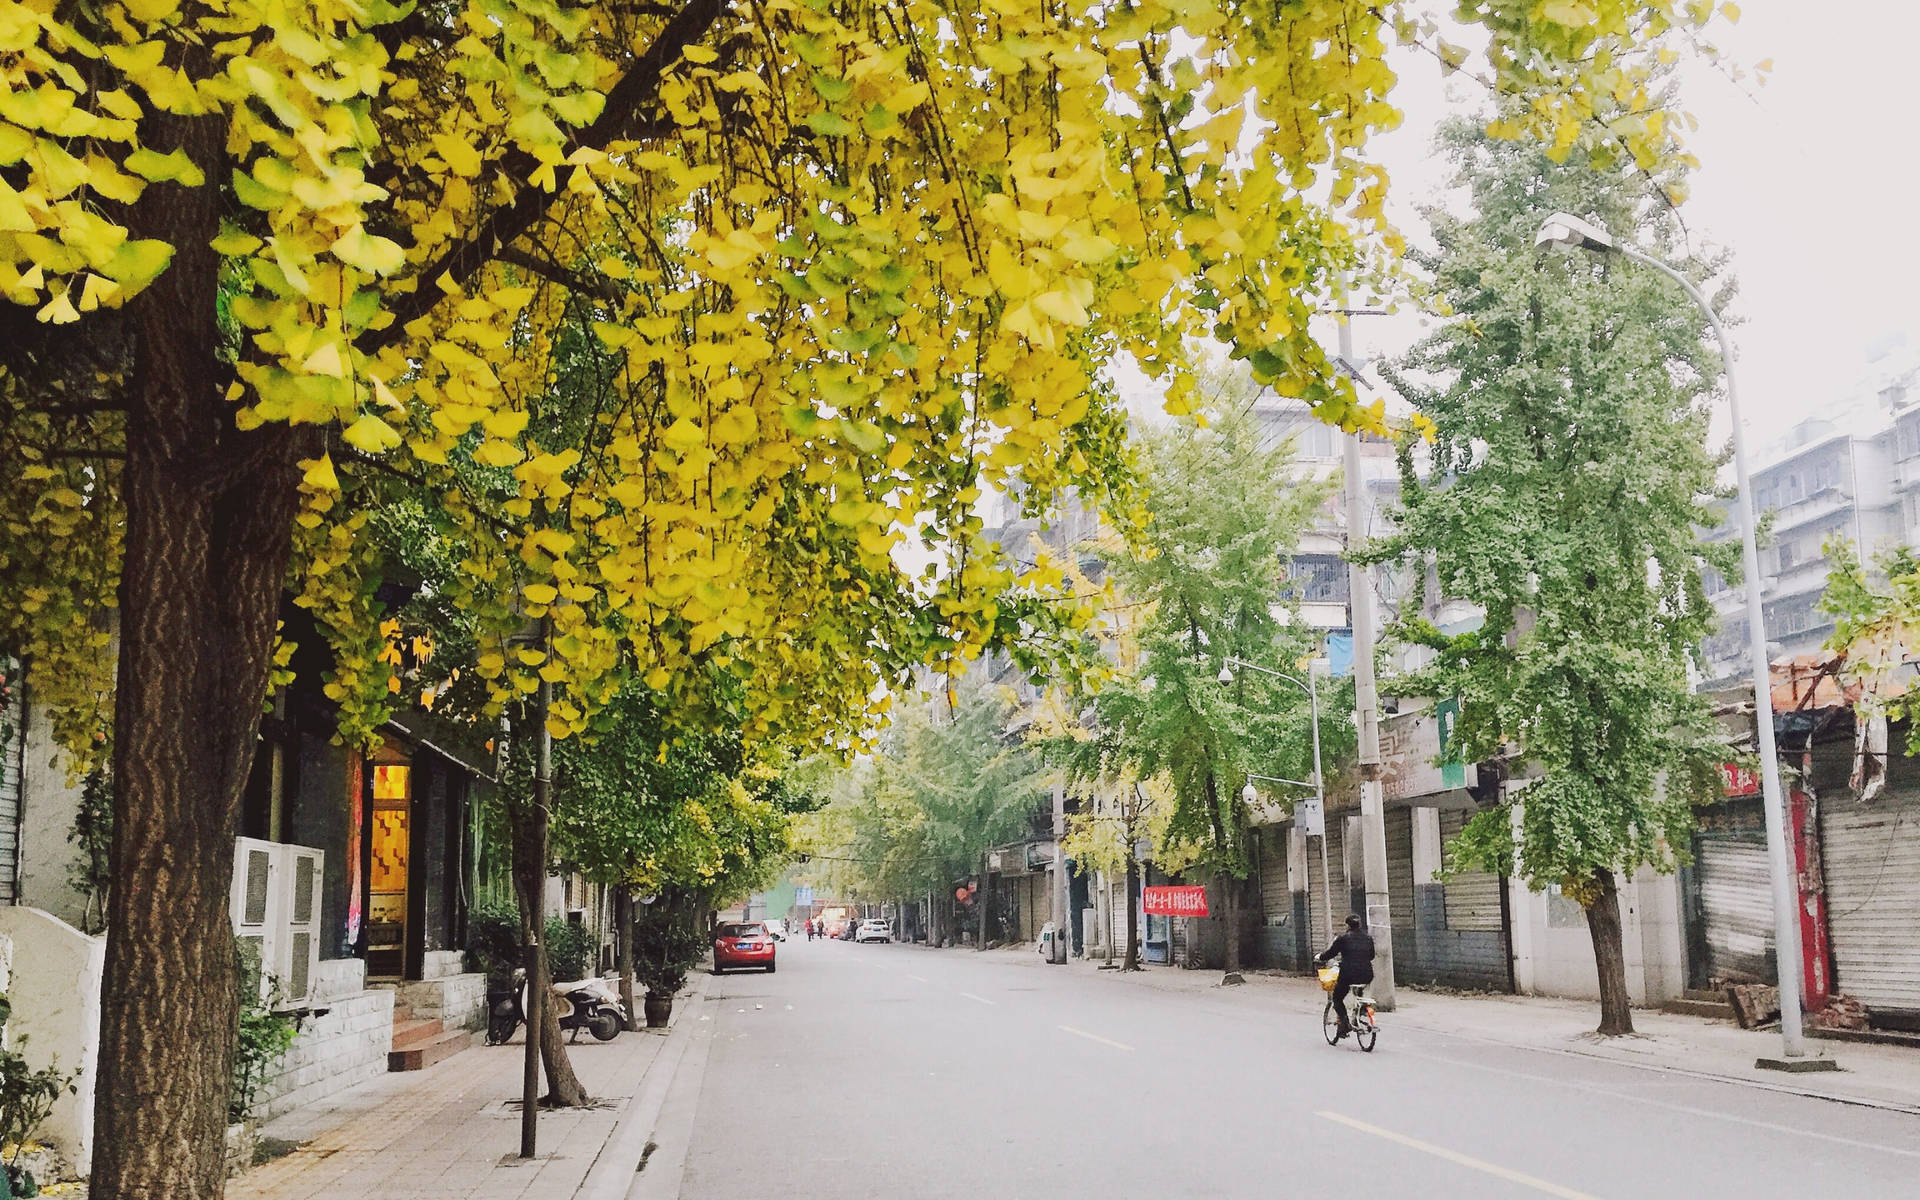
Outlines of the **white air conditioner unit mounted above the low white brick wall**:
<svg viewBox="0 0 1920 1200">
<path fill-rule="evenodd" d="M 259 954 L 259 995 L 278 1008 L 313 1000 L 324 868 L 326 851 L 234 839 L 234 937 Z"/>
</svg>

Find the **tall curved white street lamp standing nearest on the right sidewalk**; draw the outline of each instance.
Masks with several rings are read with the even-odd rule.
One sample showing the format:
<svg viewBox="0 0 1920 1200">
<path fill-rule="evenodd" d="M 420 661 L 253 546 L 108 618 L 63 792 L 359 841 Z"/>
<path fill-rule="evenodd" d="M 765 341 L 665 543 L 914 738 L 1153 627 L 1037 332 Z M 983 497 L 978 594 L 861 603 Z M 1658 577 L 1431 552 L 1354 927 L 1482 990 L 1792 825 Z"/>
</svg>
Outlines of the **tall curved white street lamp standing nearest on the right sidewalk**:
<svg viewBox="0 0 1920 1200">
<path fill-rule="evenodd" d="M 1740 509 L 1740 568 L 1747 582 L 1747 645 L 1753 668 L 1753 720 L 1761 751 L 1761 793 L 1766 804 L 1766 858 L 1774 885 L 1774 966 L 1780 983 L 1780 1041 L 1782 1058 L 1761 1058 L 1757 1066 L 1780 1071 L 1837 1069 L 1832 1058 L 1807 1054 L 1807 1035 L 1801 1029 L 1801 941 L 1799 897 L 1793 887 L 1791 839 L 1788 837 L 1786 801 L 1780 791 L 1780 758 L 1774 753 L 1774 697 L 1766 657 L 1766 618 L 1761 609 L 1761 551 L 1755 540 L 1753 486 L 1747 478 L 1747 444 L 1740 432 L 1740 392 L 1734 386 L 1734 344 L 1720 324 L 1720 315 L 1701 296 L 1693 282 L 1661 259 L 1624 246 L 1607 230 L 1571 213 L 1553 213 L 1534 234 L 1534 250 L 1596 255 L 1617 253 L 1630 263 L 1651 267 L 1680 284 L 1680 290 L 1699 305 L 1713 336 L 1720 342 L 1720 361 L 1726 367 L 1726 411 L 1734 424 L 1734 478 Z"/>
</svg>

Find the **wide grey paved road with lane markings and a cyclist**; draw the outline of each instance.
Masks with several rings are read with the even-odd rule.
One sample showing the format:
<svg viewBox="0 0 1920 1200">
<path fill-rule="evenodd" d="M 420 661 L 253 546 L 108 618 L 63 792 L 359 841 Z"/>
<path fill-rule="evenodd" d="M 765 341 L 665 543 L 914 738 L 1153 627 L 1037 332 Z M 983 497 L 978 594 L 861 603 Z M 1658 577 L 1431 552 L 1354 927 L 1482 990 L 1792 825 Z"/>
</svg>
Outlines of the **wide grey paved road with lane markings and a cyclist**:
<svg viewBox="0 0 1920 1200">
<path fill-rule="evenodd" d="M 1309 1002 L 787 943 L 780 973 L 710 983 L 634 1194 L 1920 1198 L 1914 1116 L 1390 1014 L 1361 1054 Z"/>
</svg>

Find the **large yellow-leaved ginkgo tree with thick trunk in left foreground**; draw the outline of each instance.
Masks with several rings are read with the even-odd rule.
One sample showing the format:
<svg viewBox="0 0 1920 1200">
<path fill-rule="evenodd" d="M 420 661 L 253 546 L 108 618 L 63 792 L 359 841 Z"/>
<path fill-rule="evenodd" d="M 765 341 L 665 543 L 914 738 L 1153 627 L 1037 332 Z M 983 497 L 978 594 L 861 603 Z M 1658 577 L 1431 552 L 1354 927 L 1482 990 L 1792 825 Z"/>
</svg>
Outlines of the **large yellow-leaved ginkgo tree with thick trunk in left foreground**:
<svg viewBox="0 0 1920 1200">
<path fill-rule="evenodd" d="M 1521 132 L 1657 159 L 1651 48 L 1716 12 L 1467 15 Z M 355 735 L 388 678 L 374 478 L 472 528 L 453 601 L 495 703 L 566 680 L 566 733 L 632 653 L 666 697 L 733 674 L 753 735 L 851 737 L 877 684 L 1020 634 L 1050 582 L 979 538 L 981 488 L 1131 505 L 1102 488 L 1110 357 L 1181 409 L 1219 338 L 1377 420 L 1306 328 L 1329 273 L 1394 248 L 1363 146 L 1398 117 L 1396 35 L 1465 61 L 1352 0 L 0 10 L 0 641 L 79 762 L 111 755 L 138 879 L 108 914 L 94 1187 L 221 1188 L 230 835 L 278 597 L 351 630 Z M 528 411 L 582 298 L 616 399 L 572 438 Z M 507 472 L 505 511 L 459 461 Z M 908 536 L 948 561 L 902 570 Z M 549 643 L 511 647 L 528 616 Z"/>
</svg>

